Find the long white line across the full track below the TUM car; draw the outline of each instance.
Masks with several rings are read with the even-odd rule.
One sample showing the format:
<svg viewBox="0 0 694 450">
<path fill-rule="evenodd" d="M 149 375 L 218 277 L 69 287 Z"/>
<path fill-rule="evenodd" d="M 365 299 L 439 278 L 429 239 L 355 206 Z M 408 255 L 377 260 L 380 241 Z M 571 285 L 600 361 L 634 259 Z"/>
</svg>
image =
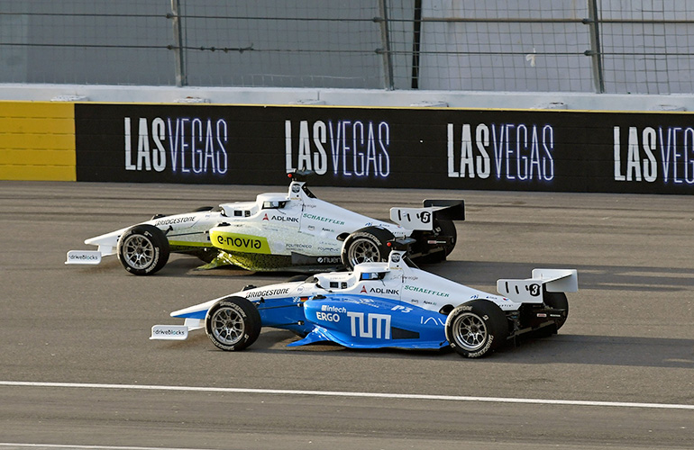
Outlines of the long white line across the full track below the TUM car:
<svg viewBox="0 0 694 450">
<path fill-rule="evenodd" d="M 203 386 L 160 386 L 147 384 L 99 384 L 99 383 L 41 383 L 0 381 L 0 386 L 117 389 L 135 391 L 180 391 L 180 392 L 224 392 L 275 395 L 308 395 L 319 397 L 362 397 L 370 399 L 431 400 L 431 401 L 481 401 L 489 403 L 525 403 L 535 405 L 569 405 L 616 408 L 646 408 L 656 410 L 694 410 L 694 405 L 676 403 L 635 403 L 628 401 L 580 401 L 552 399 L 516 399 L 507 397 L 470 397 L 464 395 L 426 395 L 397 394 L 387 392 L 336 392 L 336 391 L 295 391 L 283 389 L 212 388 Z"/>
</svg>

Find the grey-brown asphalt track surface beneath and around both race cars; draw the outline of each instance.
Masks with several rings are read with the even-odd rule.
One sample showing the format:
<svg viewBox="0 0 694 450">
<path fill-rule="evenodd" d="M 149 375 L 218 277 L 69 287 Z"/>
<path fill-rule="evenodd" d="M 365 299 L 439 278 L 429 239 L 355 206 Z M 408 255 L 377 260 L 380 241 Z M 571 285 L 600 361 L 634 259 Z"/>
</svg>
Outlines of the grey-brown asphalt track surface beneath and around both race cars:
<svg viewBox="0 0 694 450">
<path fill-rule="evenodd" d="M 150 277 L 115 257 L 63 264 L 153 213 L 285 190 L 0 182 L 0 450 L 694 447 L 694 196 L 315 187 L 379 219 L 463 198 L 457 247 L 423 267 L 463 284 L 579 270 L 559 335 L 478 360 L 291 348 L 278 329 L 239 353 L 204 332 L 151 341 L 170 311 L 290 274 L 196 271 L 191 257 Z"/>
</svg>

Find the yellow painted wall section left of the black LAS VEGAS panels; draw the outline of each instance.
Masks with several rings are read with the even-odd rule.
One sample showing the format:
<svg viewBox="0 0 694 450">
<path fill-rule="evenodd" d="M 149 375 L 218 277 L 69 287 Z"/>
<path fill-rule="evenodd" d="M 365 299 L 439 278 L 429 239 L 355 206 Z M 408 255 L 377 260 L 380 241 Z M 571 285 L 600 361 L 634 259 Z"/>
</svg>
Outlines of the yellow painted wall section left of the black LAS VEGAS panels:
<svg viewBox="0 0 694 450">
<path fill-rule="evenodd" d="M 0 102 L 0 179 L 76 181 L 75 103 Z"/>
</svg>

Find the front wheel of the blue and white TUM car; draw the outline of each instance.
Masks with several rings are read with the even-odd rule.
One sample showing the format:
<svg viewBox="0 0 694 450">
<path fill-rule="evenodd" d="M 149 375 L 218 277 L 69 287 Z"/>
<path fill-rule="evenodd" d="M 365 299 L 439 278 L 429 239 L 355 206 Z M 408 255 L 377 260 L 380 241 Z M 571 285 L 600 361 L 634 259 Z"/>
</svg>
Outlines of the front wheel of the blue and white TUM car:
<svg viewBox="0 0 694 450">
<path fill-rule="evenodd" d="M 205 333 L 227 352 L 249 347 L 260 336 L 260 312 L 243 297 L 227 297 L 207 311 Z"/>
</svg>

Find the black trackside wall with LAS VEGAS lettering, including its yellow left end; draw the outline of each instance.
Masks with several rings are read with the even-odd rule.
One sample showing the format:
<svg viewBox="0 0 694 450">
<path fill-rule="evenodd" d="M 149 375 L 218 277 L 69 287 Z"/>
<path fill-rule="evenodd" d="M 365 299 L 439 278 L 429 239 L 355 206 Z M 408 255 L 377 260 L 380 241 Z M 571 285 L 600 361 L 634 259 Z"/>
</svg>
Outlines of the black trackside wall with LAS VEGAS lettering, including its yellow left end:
<svg viewBox="0 0 694 450">
<path fill-rule="evenodd" d="M 0 102 L 0 179 L 694 193 L 694 115 Z"/>
</svg>

